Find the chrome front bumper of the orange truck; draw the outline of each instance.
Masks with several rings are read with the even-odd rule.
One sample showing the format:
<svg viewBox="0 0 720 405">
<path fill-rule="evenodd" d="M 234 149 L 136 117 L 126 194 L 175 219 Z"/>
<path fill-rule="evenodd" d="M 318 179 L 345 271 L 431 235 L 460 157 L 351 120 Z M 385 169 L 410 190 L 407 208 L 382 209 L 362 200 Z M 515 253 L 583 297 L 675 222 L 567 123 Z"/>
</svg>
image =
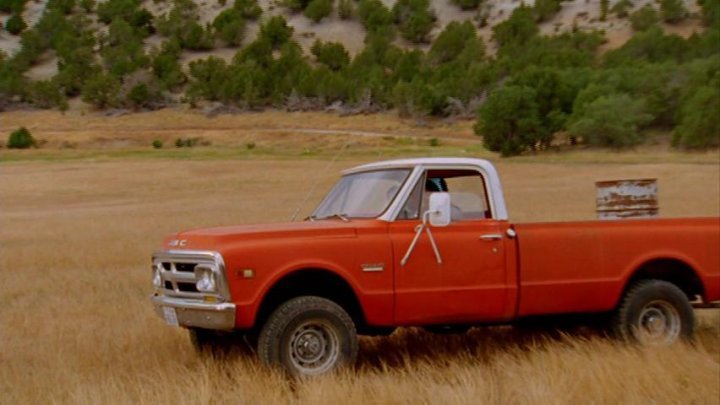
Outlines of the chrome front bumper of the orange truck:
<svg viewBox="0 0 720 405">
<path fill-rule="evenodd" d="M 232 303 L 210 303 L 165 295 L 153 295 L 150 299 L 155 312 L 170 324 L 164 308 L 171 308 L 171 312 L 175 312 L 178 326 L 218 330 L 235 327 L 235 304 Z"/>
</svg>

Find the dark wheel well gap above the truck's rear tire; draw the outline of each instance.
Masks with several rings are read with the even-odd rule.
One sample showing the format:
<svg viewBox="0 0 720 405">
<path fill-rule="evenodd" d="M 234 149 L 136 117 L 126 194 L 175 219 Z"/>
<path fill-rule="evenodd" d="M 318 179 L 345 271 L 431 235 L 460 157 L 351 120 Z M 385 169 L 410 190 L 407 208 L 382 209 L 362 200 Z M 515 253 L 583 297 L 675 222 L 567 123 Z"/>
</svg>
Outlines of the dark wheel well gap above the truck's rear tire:
<svg viewBox="0 0 720 405">
<path fill-rule="evenodd" d="M 657 259 L 640 266 L 625 286 L 624 293 L 637 281 L 646 279 L 663 280 L 675 284 L 680 288 L 688 300 L 695 300 L 696 296 L 704 297 L 705 291 L 702 281 L 692 267 L 676 259 Z"/>
</svg>

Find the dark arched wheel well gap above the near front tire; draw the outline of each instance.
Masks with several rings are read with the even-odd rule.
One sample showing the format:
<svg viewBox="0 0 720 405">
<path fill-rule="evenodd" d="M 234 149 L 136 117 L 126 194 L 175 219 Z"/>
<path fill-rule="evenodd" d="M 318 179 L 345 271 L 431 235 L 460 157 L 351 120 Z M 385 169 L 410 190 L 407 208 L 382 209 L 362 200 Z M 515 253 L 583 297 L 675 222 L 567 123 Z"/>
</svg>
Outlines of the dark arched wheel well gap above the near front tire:
<svg viewBox="0 0 720 405">
<path fill-rule="evenodd" d="M 304 295 L 327 298 L 340 305 L 350 315 L 356 327 L 365 325 L 360 301 L 345 279 L 327 270 L 304 269 L 286 275 L 270 288 L 255 316 L 255 326 L 262 327 L 270 314 L 283 302 Z"/>
</svg>

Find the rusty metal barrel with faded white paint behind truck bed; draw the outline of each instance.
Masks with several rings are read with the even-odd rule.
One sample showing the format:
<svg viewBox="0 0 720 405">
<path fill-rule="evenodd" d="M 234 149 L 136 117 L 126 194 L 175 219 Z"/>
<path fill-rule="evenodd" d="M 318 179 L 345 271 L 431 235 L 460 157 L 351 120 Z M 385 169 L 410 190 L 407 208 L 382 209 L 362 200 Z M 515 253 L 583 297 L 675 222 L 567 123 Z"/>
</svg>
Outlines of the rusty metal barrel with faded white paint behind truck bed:
<svg viewBox="0 0 720 405">
<path fill-rule="evenodd" d="M 658 216 L 657 179 L 598 181 L 595 187 L 598 219 Z"/>
</svg>

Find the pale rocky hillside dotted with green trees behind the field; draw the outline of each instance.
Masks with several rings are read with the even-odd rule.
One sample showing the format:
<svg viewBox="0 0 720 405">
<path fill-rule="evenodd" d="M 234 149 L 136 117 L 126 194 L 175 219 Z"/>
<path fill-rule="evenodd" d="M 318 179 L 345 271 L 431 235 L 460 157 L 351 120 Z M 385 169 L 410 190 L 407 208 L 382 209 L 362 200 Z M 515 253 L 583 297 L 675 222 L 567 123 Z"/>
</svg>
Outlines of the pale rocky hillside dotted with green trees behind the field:
<svg viewBox="0 0 720 405">
<path fill-rule="evenodd" d="M 504 154 L 720 139 L 717 0 L 43 1 L 0 0 L 0 109 L 395 109 Z"/>
</svg>

